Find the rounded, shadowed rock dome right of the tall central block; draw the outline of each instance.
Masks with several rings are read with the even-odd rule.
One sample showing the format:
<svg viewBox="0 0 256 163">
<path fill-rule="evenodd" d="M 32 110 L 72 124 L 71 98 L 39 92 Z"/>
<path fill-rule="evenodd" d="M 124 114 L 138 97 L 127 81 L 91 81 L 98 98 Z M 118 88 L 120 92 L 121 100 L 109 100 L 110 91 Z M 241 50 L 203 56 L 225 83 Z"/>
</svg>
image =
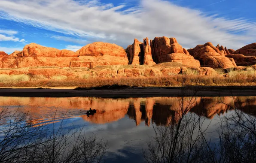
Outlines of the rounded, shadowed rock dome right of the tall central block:
<svg viewBox="0 0 256 163">
<path fill-rule="evenodd" d="M 201 66 L 211 68 L 229 68 L 236 66 L 233 58 L 225 56 L 229 53 L 227 48 L 219 45 L 214 47 L 211 42 L 207 42 L 204 45 L 197 45 L 195 48 L 191 48 L 188 51 L 190 55 L 200 61 Z"/>
</svg>

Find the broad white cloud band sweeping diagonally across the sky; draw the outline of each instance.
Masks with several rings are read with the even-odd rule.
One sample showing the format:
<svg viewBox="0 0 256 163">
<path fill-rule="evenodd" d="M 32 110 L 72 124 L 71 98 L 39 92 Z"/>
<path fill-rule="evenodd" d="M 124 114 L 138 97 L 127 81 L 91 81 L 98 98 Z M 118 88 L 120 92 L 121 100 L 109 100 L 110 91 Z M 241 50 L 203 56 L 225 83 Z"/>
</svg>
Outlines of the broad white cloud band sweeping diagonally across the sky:
<svg viewBox="0 0 256 163">
<path fill-rule="evenodd" d="M 139 2 L 136 8 L 121 11 L 124 5 L 101 4 L 98 0 L 0 0 L 0 17 L 123 47 L 134 38 L 142 41 L 146 36 L 176 37 L 181 45 L 190 48 L 213 42 L 236 49 L 256 41 L 256 33 L 252 32 L 255 22 L 206 15 L 164 0 Z"/>
</svg>

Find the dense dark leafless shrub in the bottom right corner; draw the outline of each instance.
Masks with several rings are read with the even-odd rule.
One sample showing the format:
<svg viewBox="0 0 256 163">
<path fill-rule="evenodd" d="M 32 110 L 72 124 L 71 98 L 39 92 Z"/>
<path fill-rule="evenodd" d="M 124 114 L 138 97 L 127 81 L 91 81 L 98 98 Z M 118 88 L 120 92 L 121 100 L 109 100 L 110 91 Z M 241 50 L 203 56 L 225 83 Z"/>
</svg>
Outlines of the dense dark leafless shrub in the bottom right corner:
<svg viewBox="0 0 256 163">
<path fill-rule="evenodd" d="M 234 98 L 234 101 L 235 106 L 229 106 L 233 112 L 220 118 L 218 143 L 212 145 L 207 154 L 214 155 L 215 162 L 219 163 L 254 163 L 256 162 L 256 117 L 253 114 L 255 108 L 252 108 L 250 100 L 247 100 L 246 104 L 239 98 Z"/>
</svg>

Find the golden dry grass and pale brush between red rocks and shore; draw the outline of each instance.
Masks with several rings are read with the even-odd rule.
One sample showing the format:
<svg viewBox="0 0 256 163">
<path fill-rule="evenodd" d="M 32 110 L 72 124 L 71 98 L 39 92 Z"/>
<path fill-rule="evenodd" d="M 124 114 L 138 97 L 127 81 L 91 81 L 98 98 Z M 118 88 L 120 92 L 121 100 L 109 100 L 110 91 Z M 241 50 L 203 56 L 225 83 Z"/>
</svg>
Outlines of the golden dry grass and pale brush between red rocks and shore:
<svg viewBox="0 0 256 163">
<path fill-rule="evenodd" d="M 102 69 L 120 69 L 144 67 L 144 65 L 125 65 L 125 66 L 98 66 L 94 68 Z M 158 65 L 160 66 L 160 65 Z M 166 66 L 166 65 L 165 65 Z M 160 77 L 120 77 L 120 78 L 100 78 L 95 74 L 77 74 L 76 77 L 67 77 L 65 75 L 0 75 L 0 87 L 99 87 L 103 85 L 129 85 L 129 86 L 182 86 L 182 85 L 256 85 L 256 70 L 248 67 L 246 70 L 234 71 L 230 69 L 227 77 L 223 77 L 223 70 L 215 69 L 217 75 L 207 76 L 199 75 L 193 68 L 187 68 L 184 74 L 169 74 Z M 114 77 L 114 76 L 113 76 Z M 186 79 L 186 80 L 185 80 Z"/>
</svg>

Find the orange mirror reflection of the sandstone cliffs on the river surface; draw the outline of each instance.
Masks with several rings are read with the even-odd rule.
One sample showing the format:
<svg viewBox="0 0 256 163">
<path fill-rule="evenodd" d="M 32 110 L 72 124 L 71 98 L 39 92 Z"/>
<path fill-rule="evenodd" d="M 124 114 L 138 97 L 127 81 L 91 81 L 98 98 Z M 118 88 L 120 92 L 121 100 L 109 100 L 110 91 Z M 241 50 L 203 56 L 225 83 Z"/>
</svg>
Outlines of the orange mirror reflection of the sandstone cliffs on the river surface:
<svg viewBox="0 0 256 163">
<path fill-rule="evenodd" d="M 106 99 L 94 97 L 0 97 L 0 106 L 20 107 L 28 112 L 34 123 L 51 123 L 52 117 L 81 117 L 93 124 L 119 121 L 128 115 L 136 126 L 170 125 L 179 120 L 181 108 L 212 119 L 231 108 L 243 108 L 243 112 L 256 115 L 256 97 L 150 97 L 128 99 Z M 93 116 L 85 115 L 88 109 L 96 109 Z M 57 109 L 57 110 L 56 110 Z"/>
</svg>

